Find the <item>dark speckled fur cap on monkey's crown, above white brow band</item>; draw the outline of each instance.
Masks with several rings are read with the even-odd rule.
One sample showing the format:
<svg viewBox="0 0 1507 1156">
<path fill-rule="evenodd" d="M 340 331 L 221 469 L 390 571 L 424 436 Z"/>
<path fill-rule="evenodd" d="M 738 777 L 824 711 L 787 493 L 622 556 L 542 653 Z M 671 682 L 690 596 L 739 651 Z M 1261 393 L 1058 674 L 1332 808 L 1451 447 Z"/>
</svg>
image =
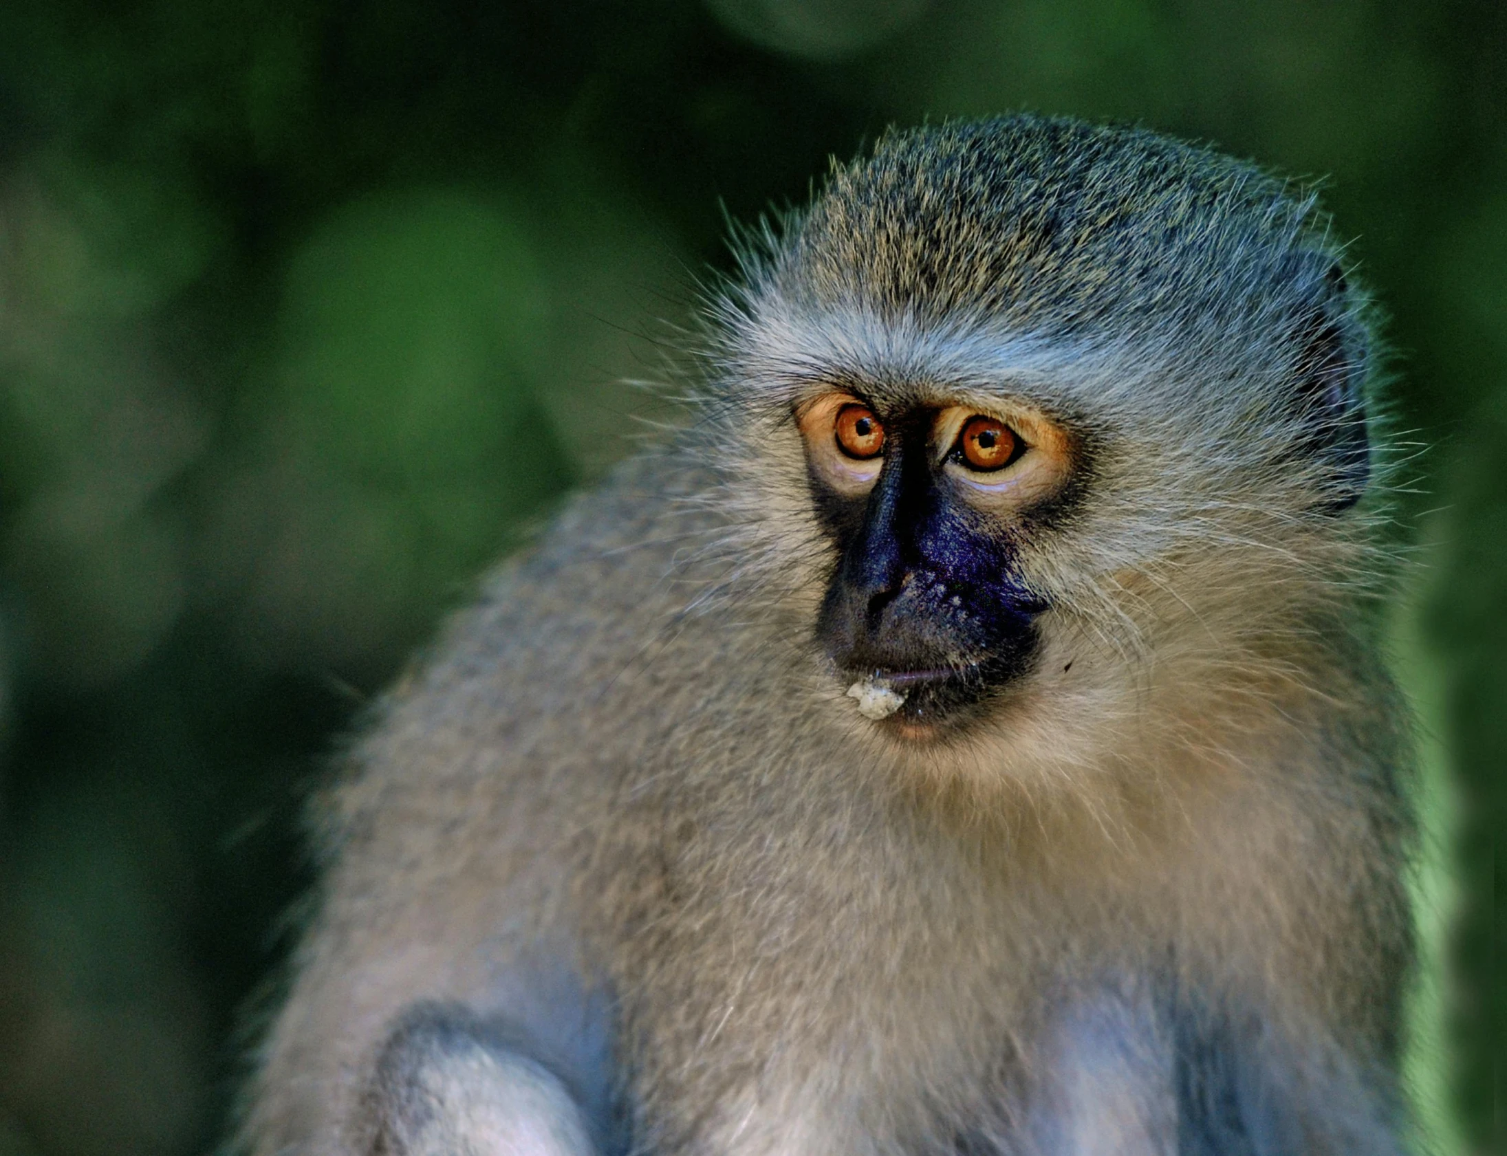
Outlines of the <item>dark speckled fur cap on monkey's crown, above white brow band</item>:
<svg viewBox="0 0 1507 1156">
<path fill-rule="evenodd" d="M 835 167 L 769 270 L 808 307 L 989 313 L 1082 332 L 1249 313 L 1295 250 L 1329 253 L 1316 199 L 1138 128 L 1014 116 L 889 133 Z M 1296 289 L 1296 286 L 1291 286 Z"/>
</svg>

